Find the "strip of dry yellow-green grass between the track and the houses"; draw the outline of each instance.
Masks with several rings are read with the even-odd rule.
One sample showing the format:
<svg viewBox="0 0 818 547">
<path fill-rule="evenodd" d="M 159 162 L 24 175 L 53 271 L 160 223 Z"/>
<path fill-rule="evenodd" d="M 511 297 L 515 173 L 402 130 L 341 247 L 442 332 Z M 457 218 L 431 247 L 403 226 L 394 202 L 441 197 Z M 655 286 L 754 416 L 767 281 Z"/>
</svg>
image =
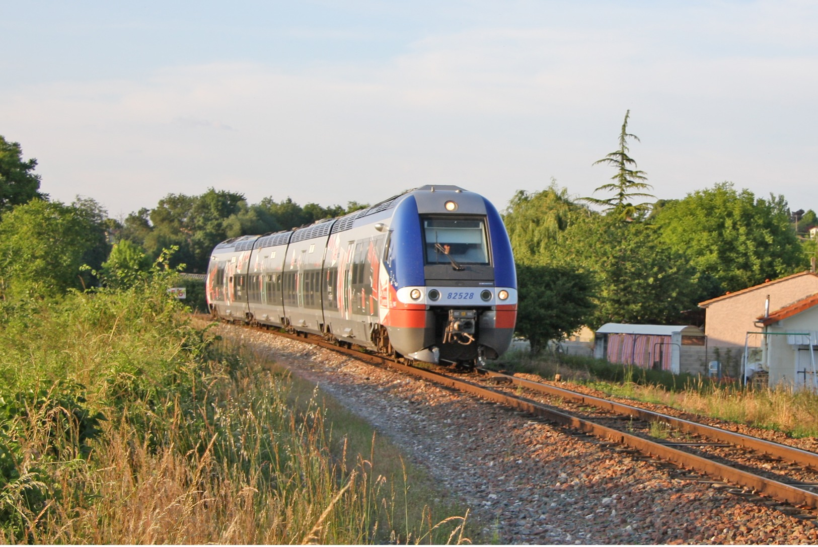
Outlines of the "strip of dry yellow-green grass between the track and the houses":
<svg viewBox="0 0 818 547">
<path fill-rule="evenodd" d="M 671 374 L 591 357 L 513 352 L 506 370 L 587 385 L 636 401 L 654 402 L 712 418 L 772 429 L 792 437 L 818 436 L 818 394 L 789 388 L 743 388 L 690 374 Z"/>
</svg>

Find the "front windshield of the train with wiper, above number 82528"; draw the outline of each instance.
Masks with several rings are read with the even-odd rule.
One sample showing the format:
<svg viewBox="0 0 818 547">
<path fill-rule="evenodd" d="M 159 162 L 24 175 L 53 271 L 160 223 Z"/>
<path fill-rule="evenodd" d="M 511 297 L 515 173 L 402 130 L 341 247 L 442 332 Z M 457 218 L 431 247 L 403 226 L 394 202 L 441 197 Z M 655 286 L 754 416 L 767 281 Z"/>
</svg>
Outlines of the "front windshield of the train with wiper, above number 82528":
<svg viewBox="0 0 818 547">
<path fill-rule="evenodd" d="M 426 217 L 423 233 L 427 264 L 489 263 L 483 218 Z"/>
</svg>

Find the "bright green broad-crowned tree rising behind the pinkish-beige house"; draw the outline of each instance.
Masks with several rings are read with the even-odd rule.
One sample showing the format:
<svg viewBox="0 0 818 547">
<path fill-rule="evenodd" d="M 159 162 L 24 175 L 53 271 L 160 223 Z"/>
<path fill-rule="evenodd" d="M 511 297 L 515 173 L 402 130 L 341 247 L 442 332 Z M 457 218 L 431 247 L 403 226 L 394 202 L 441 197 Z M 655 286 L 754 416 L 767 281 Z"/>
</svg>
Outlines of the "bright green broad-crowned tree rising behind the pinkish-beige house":
<svg viewBox="0 0 818 547">
<path fill-rule="evenodd" d="M 666 204 L 654 217 L 663 243 L 697 271 L 698 298 L 746 289 L 806 269 L 783 196 L 757 198 L 731 182 L 694 191 Z M 704 285 L 704 286 L 702 286 Z"/>
</svg>

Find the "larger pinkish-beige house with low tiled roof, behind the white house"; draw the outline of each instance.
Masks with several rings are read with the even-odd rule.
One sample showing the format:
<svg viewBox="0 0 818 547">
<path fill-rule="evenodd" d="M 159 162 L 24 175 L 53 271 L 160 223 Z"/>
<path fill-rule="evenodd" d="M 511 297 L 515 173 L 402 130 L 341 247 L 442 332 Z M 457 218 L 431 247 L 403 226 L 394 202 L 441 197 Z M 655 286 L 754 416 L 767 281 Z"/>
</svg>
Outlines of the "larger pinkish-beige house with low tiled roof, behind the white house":
<svg viewBox="0 0 818 547">
<path fill-rule="evenodd" d="M 813 294 L 818 276 L 802 271 L 699 303 L 705 311 L 706 361 L 719 361 L 724 374 L 738 377 L 745 363 L 760 362 L 764 334 L 758 317 Z"/>
</svg>

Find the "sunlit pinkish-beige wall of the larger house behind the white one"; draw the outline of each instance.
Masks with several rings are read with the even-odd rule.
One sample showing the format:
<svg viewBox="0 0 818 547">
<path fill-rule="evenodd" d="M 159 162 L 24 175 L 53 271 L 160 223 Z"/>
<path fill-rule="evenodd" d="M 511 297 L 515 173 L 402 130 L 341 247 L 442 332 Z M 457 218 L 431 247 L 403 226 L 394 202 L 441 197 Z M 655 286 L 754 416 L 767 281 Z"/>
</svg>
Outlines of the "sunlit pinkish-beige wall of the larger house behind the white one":
<svg viewBox="0 0 818 547">
<path fill-rule="evenodd" d="M 801 298 L 818 293 L 818 276 L 805 274 L 784 280 L 758 285 L 746 292 L 723 298 L 705 308 L 704 334 L 708 337 L 708 359 L 715 359 L 712 348 L 739 347 L 744 351 L 744 338 L 748 332 L 762 329 L 755 325 L 756 318 L 764 315 L 766 297 L 770 295 L 771 311 L 778 310 Z M 749 345 L 757 345 L 752 342 Z"/>
</svg>

